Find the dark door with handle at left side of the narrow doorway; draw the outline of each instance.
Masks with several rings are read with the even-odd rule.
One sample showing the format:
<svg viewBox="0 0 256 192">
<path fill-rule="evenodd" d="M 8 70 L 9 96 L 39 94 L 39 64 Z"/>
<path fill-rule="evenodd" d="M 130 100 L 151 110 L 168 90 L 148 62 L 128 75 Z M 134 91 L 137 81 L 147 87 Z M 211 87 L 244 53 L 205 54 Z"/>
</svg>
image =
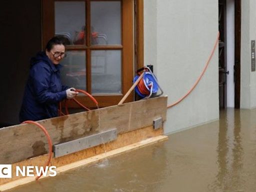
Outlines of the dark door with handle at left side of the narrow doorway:
<svg viewBox="0 0 256 192">
<path fill-rule="evenodd" d="M 218 0 L 218 90 L 219 108 L 226 107 L 226 3 Z"/>
</svg>

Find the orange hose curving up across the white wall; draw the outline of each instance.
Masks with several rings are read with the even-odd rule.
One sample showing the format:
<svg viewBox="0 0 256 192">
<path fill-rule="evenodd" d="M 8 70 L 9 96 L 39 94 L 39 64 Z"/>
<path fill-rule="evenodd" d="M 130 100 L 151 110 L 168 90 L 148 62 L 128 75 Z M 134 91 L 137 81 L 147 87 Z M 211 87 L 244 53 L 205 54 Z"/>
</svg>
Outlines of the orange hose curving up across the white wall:
<svg viewBox="0 0 256 192">
<path fill-rule="evenodd" d="M 214 46 L 213 46 L 213 48 L 211 50 L 211 53 L 210 53 L 210 55 L 209 55 L 209 57 L 208 57 L 208 59 L 206 61 L 206 64 L 205 64 L 201 74 L 199 75 L 199 77 L 197 78 L 195 83 L 193 84 L 193 86 L 180 99 L 178 99 L 177 101 L 173 102 L 170 105 L 167 105 L 167 108 L 170 108 L 170 107 L 176 105 L 177 103 L 179 103 L 181 100 L 183 100 L 194 89 L 194 87 L 197 85 L 197 83 L 200 81 L 200 79 L 201 79 L 202 75 L 204 74 L 205 70 L 207 69 L 207 66 L 208 66 L 208 64 L 209 64 L 209 62 L 210 62 L 210 60 L 211 60 L 211 58 L 213 56 L 213 53 L 214 53 L 215 49 L 216 49 L 216 46 L 217 46 L 217 43 L 218 43 L 218 37 L 219 37 L 219 32 L 217 33 L 217 38 L 216 38 L 215 44 L 214 44 Z"/>
</svg>

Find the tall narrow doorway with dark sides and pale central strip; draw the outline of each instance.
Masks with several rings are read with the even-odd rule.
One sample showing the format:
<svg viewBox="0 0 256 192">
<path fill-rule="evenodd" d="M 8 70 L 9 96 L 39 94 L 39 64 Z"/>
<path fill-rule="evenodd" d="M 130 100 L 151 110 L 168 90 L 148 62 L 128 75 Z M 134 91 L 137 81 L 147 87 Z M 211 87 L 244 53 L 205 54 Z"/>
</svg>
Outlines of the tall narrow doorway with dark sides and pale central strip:
<svg viewBox="0 0 256 192">
<path fill-rule="evenodd" d="M 240 0 L 218 0 L 219 108 L 240 107 Z"/>
</svg>

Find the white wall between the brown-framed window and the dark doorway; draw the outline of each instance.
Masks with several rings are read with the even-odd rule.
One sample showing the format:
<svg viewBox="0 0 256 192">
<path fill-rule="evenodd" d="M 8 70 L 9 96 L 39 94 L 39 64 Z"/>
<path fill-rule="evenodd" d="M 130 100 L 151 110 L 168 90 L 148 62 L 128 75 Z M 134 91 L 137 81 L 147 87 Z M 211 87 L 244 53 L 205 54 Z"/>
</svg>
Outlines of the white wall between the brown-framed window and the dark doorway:
<svg viewBox="0 0 256 192">
<path fill-rule="evenodd" d="M 156 20 L 155 20 L 156 18 Z M 214 45 L 218 31 L 217 0 L 145 0 L 144 64 L 176 101 L 193 85 Z M 218 118 L 218 50 L 197 87 L 167 110 L 165 133 Z"/>
</svg>

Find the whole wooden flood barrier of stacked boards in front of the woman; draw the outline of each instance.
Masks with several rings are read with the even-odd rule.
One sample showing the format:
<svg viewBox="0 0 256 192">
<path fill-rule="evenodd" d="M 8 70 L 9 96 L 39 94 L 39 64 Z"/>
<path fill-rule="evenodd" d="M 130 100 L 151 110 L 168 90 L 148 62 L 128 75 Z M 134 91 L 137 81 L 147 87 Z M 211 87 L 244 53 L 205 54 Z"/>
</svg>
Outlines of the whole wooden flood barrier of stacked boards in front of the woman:
<svg viewBox="0 0 256 192">
<path fill-rule="evenodd" d="M 167 96 L 161 96 L 37 122 L 47 129 L 53 145 L 111 129 L 117 131 L 115 140 L 52 158 L 51 165 L 58 167 L 162 135 L 162 127 L 153 129 L 153 120 L 159 118 L 162 122 L 166 120 L 166 106 Z M 47 152 L 47 139 L 43 132 L 32 124 L 18 124 L 0 129 L 0 164 L 44 165 Z M 12 175 L 14 174 L 15 172 Z M 20 180 L 15 176 L 0 178 L 0 190 L 5 183 L 17 179 Z"/>
</svg>

